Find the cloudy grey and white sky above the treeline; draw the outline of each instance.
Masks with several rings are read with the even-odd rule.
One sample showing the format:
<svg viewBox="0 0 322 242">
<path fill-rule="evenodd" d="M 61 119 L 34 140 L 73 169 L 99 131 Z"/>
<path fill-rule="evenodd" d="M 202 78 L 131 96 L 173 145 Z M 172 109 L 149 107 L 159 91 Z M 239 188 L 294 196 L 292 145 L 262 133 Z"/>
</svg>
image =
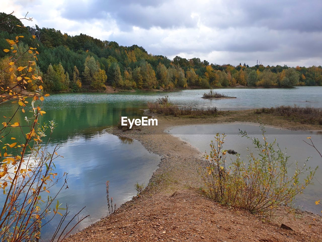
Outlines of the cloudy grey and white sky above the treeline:
<svg viewBox="0 0 322 242">
<path fill-rule="evenodd" d="M 1 12 L 147 52 L 216 64 L 322 65 L 322 1 L 13 0 Z"/>
</svg>

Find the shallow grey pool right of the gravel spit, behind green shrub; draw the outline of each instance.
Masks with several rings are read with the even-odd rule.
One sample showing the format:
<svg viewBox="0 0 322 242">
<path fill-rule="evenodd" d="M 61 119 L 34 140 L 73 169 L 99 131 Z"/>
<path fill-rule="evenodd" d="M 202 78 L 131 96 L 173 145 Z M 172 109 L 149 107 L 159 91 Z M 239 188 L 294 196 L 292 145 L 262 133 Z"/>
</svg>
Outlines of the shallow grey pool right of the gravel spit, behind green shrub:
<svg viewBox="0 0 322 242">
<path fill-rule="evenodd" d="M 252 145 L 250 139 L 241 137 L 238 135 L 239 129 L 244 131 L 252 137 L 257 137 L 262 141 L 262 135 L 260 134 L 259 126 L 255 125 L 243 125 L 243 124 L 227 124 L 227 125 L 189 125 L 175 127 L 170 130 L 170 133 L 180 137 L 181 139 L 189 142 L 192 146 L 195 146 L 203 153 L 206 151 L 210 153 L 209 144 L 211 140 L 214 140 L 214 135 L 216 133 L 225 134 L 226 141 L 224 143 L 224 149 L 233 149 L 241 154 L 241 158 L 247 161 L 247 155 L 249 151 L 256 153 L 256 148 Z M 299 166 L 302 166 L 306 161 L 306 158 L 310 156 L 307 163 L 308 166 L 316 167 L 322 166 L 322 159 L 316 150 L 308 146 L 303 142 L 306 137 L 311 136 L 312 140 L 318 150 L 322 151 L 322 132 L 319 131 L 292 131 L 285 129 L 277 129 L 266 127 L 266 136 L 268 137 L 268 142 L 273 142 L 274 138 L 277 139 L 279 147 L 286 150 L 286 154 L 291 156 L 289 162 L 293 163 L 298 161 Z M 227 162 L 231 159 L 235 159 L 235 155 L 228 154 Z M 289 174 L 291 171 L 289 171 Z M 294 174 L 294 173 L 293 173 Z M 313 180 L 314 185 L 308 186 L 302 195 L 298 195 L 296 198 L 296 205 L 305 210 L 320 214 L 321 207 L 315 205 L 315 201 L 322 197 L 322 169 L 319 168 L 316 172 L 315 178 Z"/>
</svg>

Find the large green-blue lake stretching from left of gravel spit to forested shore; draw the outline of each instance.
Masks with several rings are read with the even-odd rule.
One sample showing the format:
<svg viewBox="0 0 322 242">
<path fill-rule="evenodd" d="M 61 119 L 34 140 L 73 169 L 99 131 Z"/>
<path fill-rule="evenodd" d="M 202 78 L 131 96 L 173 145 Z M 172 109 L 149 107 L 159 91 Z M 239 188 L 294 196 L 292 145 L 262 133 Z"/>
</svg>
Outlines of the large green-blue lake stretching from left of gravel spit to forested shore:
<svg viewBox="0 0 322 242">
<path fill-rule="evenodd" d="M 56 167 L 59 173 L 69 173 L 69 189 L 62 192 L 59 200 L 63 204 L 69 204 L 71 214 L 86 206 L 84 214 L 91 215 L 91 220 L 85 220 L 80 229 L 107 215 L 106 180 L 110 181 L 110 195 L 120 205 L 136 195 L 136 182 L 147 184 L 156 170 L 159 156 L 149 153 L 135 140 L 119 139 L 104 131 L 106 127 L 117 124 L 120 116 L 142 116 L 142 109 L 147 107 L 148 101 L 153 102 L 158 97 L 169 95 L 174 103 L 181 106 L 217 106 L 223 110 L 282 104 L 322 106 L 322 87 L 219 89 L 217 91 L 237 98 L 200 98 L 207 91 L 55 94 L 45 99 L 46 115 L 40 122 L 54 120 L 58 123 L 50 147 L 61 147 L 59 153 L 64 158 L 56 161 Z M 13 111 L 14 108 L 10 104 L 0 106 L 1 119 L 3 115 L 10 116 L 8 114 L 12 114 Z M 22 113 L 19 115 L 20 120 L 25 116 Z M 19 136 L 18 129 L 14 129 L 13 132 L 10 137 Z M 292 146 L 293 143 L 290 143 L 288 147 Z M 54 190 L 51 192 L 53 194 Z M 51 225 L 55 227 L 54 221 Z M 43 232 L 43 236 L 51 233 L 50 228 Z"/>
</svg>

